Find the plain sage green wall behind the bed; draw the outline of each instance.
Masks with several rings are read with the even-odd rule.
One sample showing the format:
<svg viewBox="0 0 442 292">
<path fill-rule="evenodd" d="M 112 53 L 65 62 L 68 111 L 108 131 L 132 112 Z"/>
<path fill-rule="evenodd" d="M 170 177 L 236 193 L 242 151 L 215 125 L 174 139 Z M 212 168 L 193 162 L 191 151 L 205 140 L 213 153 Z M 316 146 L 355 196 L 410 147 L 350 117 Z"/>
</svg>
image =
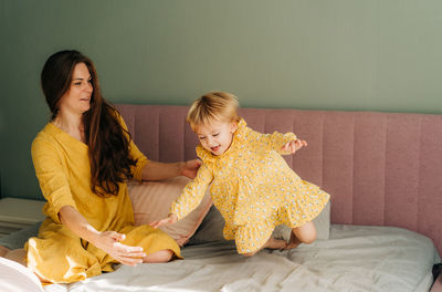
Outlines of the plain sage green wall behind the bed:
<svg viewBox="0 0 442 292">
<path fill-rule="evenodd" d="M 42 198 L 30 145 L 49 118 L 39 85 L 77 49 L 114 103 L 442 114 L 439 0 L 0 0 L 1 195 Z"/>
</svg>

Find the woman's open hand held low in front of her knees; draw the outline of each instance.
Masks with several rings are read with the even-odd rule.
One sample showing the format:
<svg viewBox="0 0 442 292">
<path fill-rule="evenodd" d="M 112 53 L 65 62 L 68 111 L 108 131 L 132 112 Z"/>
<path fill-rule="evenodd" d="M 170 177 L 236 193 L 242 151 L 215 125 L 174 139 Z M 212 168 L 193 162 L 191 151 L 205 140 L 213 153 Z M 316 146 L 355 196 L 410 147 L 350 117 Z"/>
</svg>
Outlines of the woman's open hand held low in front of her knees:
<svg viewBox="0 0 442 292">
<path fill-rule="evenodd" d="M 120 243 L 125 238 L 125 234 L 105 231 L 98 233 L 92 243 L 123 264 L 137 265 L 137 263 L 141 263 L 143 258 L 146 257 L 143 248 Z"/>
</svg>

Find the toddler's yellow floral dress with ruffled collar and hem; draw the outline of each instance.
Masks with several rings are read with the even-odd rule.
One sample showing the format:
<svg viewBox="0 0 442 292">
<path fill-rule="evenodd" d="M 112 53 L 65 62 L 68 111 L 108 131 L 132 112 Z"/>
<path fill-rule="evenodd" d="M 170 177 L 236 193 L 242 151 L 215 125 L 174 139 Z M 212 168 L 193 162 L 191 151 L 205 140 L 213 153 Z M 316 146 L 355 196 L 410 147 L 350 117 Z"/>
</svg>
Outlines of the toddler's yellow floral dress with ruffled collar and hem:
<svg viewBox="0 0 442 292">
<path fill-rule="evenodd" d="M 197 155 L 203 164 L 170 212 L 178 219 L 188 215 L 211 184 L 213 204 L 225 220 L 224 238 L 235 240 L 239 253 L 260 249 L 277 225 L 295 228 L 312 221 L 329 195 L 302 180 L 280 155 L 281 147 L 293 139 L 293 133 L 254 132 L 241 119 L 222 155 L 198 145 Z"/>
</svg>

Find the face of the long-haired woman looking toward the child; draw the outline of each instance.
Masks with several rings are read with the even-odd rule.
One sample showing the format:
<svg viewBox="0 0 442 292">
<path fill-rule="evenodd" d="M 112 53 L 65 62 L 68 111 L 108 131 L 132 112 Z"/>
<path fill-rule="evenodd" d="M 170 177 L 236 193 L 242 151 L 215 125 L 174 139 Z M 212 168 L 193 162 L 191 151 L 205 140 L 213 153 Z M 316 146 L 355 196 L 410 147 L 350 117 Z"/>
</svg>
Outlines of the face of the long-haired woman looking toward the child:
<svg viewBox="0 0 442 292">
<path fill-rule="evenodd" d="M 78 63 L 72 74 L 71 86 L 60 98 L 60 112 L 83 114 L 91 108 L 92 87 L 91 73 L 85 63 Z"/>
</svg>

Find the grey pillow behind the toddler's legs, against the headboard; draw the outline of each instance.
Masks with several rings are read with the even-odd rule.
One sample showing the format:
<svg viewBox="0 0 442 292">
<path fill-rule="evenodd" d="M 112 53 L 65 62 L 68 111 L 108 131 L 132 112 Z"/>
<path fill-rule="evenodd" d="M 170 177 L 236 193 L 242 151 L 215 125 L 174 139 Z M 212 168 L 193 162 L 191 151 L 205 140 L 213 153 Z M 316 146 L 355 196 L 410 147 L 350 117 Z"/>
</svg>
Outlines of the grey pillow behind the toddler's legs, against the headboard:
<svg viewBox="0 0 442 292">
<path fill-rule="evenodd" d="M 324 207 L 323 211 L 313 219 L 317 231 L 317 239 L 328 239 L 330 236 L 330 202 Z M 197 232 L 189 240 L 190 244 L 200 244 L 213 241 L 225 240 L 222 236 L 222 229 L 224 228 L 224 219 L 218 209 L 212 206 L 206 216 L 204 220 L 200 225 Z M 278 239 L 290 240 L 292 229 L 286 226 L 277 226 L 273 232 L 273 237 Z"/>
</svg>

